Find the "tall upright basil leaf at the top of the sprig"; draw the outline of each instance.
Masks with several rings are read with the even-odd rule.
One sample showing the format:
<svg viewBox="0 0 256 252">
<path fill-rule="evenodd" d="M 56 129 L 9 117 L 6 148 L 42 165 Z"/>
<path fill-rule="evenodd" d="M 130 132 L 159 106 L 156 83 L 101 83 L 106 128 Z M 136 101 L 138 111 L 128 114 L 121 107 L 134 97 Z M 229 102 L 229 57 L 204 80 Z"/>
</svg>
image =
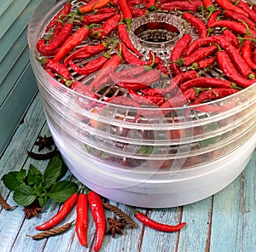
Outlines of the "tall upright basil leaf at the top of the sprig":
<svg viewBox="0 0 256 252">
<path fill-rule="evenodd" d="M 62 159 L 61 155 L 57 154 L 49 160 L 49 163 L 44 171 L 44 186 L 50 187 L 55 184 L 61 175 Z"/>
</svg>

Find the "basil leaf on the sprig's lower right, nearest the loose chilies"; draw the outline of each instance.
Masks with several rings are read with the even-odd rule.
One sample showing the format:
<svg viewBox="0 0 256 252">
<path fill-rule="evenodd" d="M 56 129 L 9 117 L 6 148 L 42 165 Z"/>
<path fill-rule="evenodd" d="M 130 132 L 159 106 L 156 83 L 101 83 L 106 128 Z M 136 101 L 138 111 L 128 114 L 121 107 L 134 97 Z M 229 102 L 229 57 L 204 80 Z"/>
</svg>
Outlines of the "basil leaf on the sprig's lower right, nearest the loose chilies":
<svg viewBox="0 0 256 252">
<path fill-rule="evenodd" d="M 48 196 L 55 202 L 64 202 L 69 198 L 74 192 L 78 191 L 78 185 L 70 181 L 59 181 L 56 182 L 54 186 L 50 188 Z"/>
</svg>

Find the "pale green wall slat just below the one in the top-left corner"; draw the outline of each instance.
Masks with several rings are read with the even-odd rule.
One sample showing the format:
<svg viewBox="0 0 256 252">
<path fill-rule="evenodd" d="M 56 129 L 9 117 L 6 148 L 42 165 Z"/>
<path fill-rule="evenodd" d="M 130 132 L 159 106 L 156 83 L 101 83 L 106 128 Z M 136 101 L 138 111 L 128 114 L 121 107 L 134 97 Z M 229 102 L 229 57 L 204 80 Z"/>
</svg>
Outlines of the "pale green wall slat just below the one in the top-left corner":
<svg viewBox="0 0 256 252">
<path fill-rule="evenodd" d="M 0 39 L 3 37 L 9 27 L 12 26 L 14 20 L 21 14 L 23 9 L 31 0 L 16 0 L 9 5 L 9 8 L 0 16 L 0 23 L 4 24 L 0 30 Z"/>
</svg>

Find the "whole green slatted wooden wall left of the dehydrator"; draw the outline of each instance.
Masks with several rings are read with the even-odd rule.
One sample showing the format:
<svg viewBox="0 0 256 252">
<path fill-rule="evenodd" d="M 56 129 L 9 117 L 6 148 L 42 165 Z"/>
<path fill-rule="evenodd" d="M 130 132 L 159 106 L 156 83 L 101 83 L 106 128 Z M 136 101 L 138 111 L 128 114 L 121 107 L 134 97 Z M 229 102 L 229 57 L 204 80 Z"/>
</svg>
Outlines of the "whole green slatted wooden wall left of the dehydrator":
<svg viewBox="0 0 256 252">
<path fill-rule="evenodd" d="M 29 63 L 26 28 L 40 1 L 4 0 L 0 4 L 0 157 L 38 90 Z"/>
</svg>

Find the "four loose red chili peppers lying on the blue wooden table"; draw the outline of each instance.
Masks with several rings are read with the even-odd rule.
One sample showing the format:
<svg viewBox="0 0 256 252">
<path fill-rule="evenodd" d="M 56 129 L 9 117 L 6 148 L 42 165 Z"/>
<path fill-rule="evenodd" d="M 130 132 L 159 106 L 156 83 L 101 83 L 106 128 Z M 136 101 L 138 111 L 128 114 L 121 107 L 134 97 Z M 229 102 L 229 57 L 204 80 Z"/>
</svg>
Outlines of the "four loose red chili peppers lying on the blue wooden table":
<svg viewBox="0 0 256 252">
<path fill-rule="evenodd" d="M 44 222 L 40 226 L 36 226 L 36 229 L 38 231 L 47 231 L 57 226 L 67 217 L 67 215 L 72 211 L 75 205 L 77 214 L 75 221 L 75 232 L 79 238 L 79 243 L 81 243 L 84 247 L 88 246 L 87 229 L 89 221 L 89 206 L 96 225 L 94 251 L 99 251 L 99 249 L 102 247 L 107 227 L 104 205 L 102 203 L 102 198 L 99 196 L 99 194 L 94 191 L 90 191 L 87 188 L 84 188 L 79 193 L 74 192 L 70 198 L 67 198 L 67 201 L 63 203 L 61 209 L 53 217 L 51 217 L 49 221 Z M 176 226 L 161 224 L 152 219 L 149 219 L 146 215 L 143 215 L 143 213 L 138 212 L 136 209 L 131 209 L 134 212 L 135 217 L 138 221 L 141 221 L 145 226 L 161 232 L 178 232 L 183 228 L 183 226 L 186 225 L 185 222 L 177 224 Z"/>
</svg>

